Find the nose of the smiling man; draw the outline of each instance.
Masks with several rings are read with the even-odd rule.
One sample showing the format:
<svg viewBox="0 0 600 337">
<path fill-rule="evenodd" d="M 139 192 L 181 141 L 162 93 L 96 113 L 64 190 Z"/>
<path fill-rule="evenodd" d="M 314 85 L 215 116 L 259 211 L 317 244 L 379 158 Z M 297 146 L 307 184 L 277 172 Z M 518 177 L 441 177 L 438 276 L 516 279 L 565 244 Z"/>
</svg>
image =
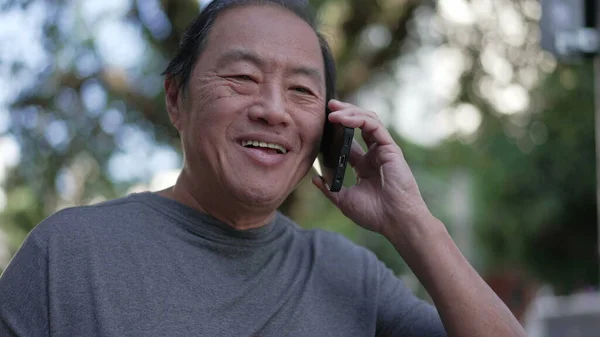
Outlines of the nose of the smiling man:
<svg viewBox="0 0 600 337">
<path fill-rule="evenodd" d="M 260 102 L 249 109 L 250 119 L 269 125 L 289 124 L 291 117 L 286 110 L 282 89 L 274 83 L 265 84 L 260 95 Z"/>
</svg>

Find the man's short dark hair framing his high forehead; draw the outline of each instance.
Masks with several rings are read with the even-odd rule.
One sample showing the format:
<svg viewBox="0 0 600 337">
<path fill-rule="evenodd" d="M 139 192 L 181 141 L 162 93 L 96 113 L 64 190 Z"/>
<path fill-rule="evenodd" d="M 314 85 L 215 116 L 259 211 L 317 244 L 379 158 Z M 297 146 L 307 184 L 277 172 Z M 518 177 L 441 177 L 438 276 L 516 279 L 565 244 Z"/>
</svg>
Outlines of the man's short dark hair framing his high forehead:
<svg viewBox="0 0 600 337">
<path fill-rule="evenodd" d="M 174 78 L 181 90 L 187 89 L 189 79 L 194 65 L 204 50 L 206 39 L 219 14 L 233 7 L 253 4 L 276 5 L 296 14 L 304 22 L 309 24 L 321 46 L 325 68 L 326 104 L 336 94 L 336 69 L 335 60 L 329 48 L 329 44 L 321 33 L 317 31 L 316 19 L 312 9 L 304 0 L 213 0 L 200 12 L 200 14 L 186 28 L 179 44 L 175 57 L 169 62 L 163 75 Z"/>
</svg>

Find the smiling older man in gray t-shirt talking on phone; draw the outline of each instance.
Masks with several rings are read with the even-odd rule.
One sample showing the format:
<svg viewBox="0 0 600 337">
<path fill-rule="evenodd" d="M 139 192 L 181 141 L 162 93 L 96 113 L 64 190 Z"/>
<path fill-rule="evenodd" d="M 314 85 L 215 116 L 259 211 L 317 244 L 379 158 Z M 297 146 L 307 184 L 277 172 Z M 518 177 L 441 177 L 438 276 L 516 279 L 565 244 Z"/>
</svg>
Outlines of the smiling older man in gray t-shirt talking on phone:
<svg viewBox="0 0 600 337">
<path fill-rule="evenodd" d="M 313 27 L 295 1 L 211 3 L 166 71 L 177 183 L 38 225 L 0 280 L 0 335 L 523 336 L 376 114 L 330 100 L 331 53 Z M 372 253 L 276 213 L 325 118 L 359 128 L 368 149 L 352 147 L 356 186 L 314 184 L 390 240 L 437 310 Z"/>
</svg>

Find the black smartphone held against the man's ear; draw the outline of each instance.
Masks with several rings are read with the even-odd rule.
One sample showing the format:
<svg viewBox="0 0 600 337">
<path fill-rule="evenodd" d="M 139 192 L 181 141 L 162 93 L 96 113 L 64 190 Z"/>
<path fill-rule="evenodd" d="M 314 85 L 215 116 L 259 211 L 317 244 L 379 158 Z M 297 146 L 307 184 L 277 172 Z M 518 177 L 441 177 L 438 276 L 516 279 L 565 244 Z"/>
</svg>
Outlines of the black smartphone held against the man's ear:
<svg viewBox="0 0 600 337">
<path fill-rule="evenodd" d="M 320 174 L 331 192 L 339 192 L 342 188 L 353 138 L 354 128 L 331 123 L 329 119 L 325 119 L 318 163 Z"/>
</svg>

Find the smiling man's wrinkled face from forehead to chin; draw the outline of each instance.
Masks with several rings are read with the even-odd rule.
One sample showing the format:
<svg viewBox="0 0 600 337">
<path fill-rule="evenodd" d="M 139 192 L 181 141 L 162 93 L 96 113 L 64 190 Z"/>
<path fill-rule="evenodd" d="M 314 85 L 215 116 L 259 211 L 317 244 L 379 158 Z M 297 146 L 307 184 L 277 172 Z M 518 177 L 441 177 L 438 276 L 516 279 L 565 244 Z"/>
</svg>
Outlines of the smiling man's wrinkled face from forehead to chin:
<svg viewBox="0 0 600 337">
<path fill-rule="evenodd" d="M 196 187 L 278 207 L 316 156 L 324 79 L 317 36 L 293 13 L 269 5 L 222 13 L 179 104 Z"/>
</svg>

